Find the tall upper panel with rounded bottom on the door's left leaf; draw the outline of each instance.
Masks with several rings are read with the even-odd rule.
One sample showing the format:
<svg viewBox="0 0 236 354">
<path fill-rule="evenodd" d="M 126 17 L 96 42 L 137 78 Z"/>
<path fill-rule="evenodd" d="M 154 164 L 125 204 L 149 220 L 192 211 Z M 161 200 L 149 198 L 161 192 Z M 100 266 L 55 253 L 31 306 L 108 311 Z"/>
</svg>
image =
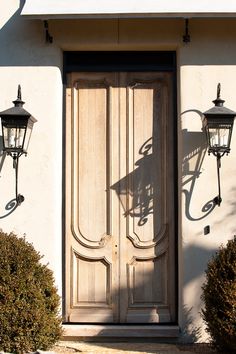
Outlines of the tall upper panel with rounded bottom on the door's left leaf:
<svg viewBox="0 0 236 354">
<path fill-rule="evenodd" d="M 77 193 L 74 193 L 74 226 L 85 243 L 89 240 L 96 244 L 109 235 L 110 224 L 108 87 L 102 83 L 80 81 L 76 87 L 78 127 L 75 137 L 74 184 Z"/>
</svg>

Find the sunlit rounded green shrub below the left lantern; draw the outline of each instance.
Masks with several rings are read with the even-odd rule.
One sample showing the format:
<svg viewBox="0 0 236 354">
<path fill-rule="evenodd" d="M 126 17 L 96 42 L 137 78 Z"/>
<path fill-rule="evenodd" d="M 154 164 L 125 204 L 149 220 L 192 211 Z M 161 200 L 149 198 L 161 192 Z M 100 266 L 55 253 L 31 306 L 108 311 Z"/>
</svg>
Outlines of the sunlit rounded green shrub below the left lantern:
<svg viewBox="0 0 236 354">
<path fill-rule="evenodd" d="M 24 238 L 0 231 L 0 350 L 49 349 L 61 336 L 52 271 Z"/>
</svg>

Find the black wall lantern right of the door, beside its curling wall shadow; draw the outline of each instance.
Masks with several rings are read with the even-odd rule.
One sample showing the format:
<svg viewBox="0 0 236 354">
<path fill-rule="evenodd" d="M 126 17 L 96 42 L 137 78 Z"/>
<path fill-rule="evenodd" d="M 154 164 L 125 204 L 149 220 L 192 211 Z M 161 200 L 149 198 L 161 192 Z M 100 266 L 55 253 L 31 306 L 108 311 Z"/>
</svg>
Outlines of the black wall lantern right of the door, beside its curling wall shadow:
<svg viewBox="0 0 236 354">
<path fill-rule="evenodd" d="M 228 155 L 230 152 L 230 142 L 234 125 L 236 112 L 224 107 L 224 100 L 220 98 L 221 85 L 217 85 L 217 98 L 213 101 L 214 107 L 204 112 L 203 129 L 206 133 L 208 154 L 211 153 L 217 159 L 217 176 L 218 176 L 218 196 L 214 198 L 214 202 L 220 206 L 221 188 L 220 188 L 220 167 L 221 157 Z"/>
</svg>

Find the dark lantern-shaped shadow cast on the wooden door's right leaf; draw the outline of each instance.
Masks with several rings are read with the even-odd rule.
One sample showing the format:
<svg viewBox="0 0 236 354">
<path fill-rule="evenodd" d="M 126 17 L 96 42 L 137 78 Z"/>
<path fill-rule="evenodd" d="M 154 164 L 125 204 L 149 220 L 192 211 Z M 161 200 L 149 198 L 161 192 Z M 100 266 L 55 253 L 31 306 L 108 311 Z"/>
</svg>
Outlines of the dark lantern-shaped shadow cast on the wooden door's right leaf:
<svg viewBox="0 0 236 354">
<path fill-rule="evenodd" d="M 138 218 L 138 226 L 143 226 L 149 216 L 154 214 L 154 200 L 157 196 L 157 186 L 154 187 L 157 184 L 156 173 L 147 172 L 153 171 L 155 165 L 152 137 L 140 147 L 139 155 L 141 158 L 135 162 L 135 169 L 110 188 L 115 190 L 120 200 L 123 215 Z"/>
</svg>

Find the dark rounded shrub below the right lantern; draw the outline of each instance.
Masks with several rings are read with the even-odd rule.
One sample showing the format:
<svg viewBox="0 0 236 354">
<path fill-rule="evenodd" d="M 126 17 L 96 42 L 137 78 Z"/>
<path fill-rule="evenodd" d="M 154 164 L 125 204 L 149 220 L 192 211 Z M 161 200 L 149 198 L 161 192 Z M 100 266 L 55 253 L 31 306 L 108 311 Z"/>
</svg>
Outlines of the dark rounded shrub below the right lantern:
<svg viewBox="0 0 236 354">
<path fill-rule="evenodd" d="M 236 237 L 208 263 L 202 310 L 216 348 L 236 353 Z"/>
</svg>

